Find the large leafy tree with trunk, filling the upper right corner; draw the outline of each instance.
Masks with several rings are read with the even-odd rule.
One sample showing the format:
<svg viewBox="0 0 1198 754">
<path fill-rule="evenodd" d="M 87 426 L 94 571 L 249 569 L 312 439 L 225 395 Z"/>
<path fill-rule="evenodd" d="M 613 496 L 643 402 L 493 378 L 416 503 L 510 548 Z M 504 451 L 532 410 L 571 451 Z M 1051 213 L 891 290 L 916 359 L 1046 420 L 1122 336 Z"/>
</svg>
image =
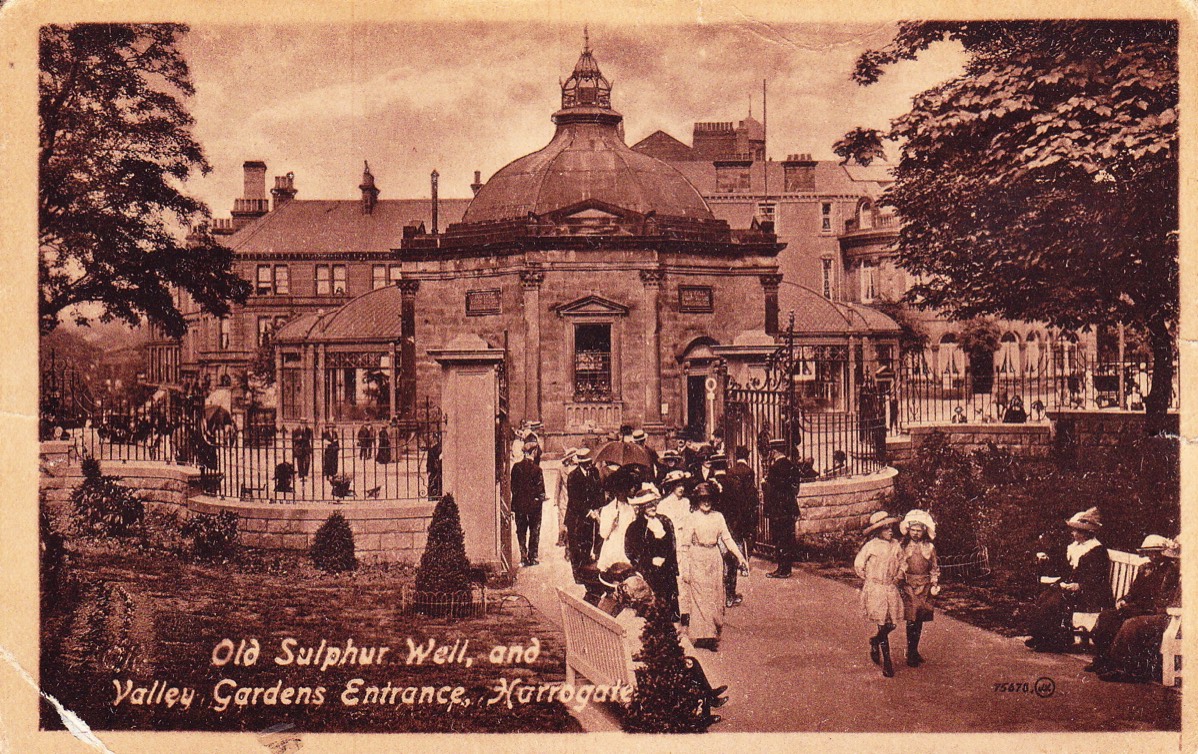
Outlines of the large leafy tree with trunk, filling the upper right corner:
<svg viewBox="0 0 1198 754">
<path fill-rule="evenodd" d="M 915 22 L 854 78 L 952 41 L 964 72 L 888 132 L 837 143 L 867 162 L 898 144 L 883 200 L 903 217 L 908 302 L 952 318 L 1143 327 L 1150 429 L 1168 408 L 1179 309 L 1178 26 L 1172 22 Z"/>
</svg>

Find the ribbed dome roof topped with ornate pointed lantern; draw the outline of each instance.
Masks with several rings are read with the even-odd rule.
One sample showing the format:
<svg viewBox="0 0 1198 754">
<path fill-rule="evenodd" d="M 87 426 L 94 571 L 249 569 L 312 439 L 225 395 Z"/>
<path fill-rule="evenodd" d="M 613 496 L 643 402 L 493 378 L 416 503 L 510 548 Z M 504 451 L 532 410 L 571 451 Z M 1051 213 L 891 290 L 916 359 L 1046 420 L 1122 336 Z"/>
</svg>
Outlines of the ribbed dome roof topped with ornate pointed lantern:
<svg viewBox="0 0 1198 754">
<path fill-rule="evenodd" d="M 713 219 L 703 197 L 673 167 L 624 144 L 611 85 L 585 49 L 562 85 L 557 133 L 541 150 L 509 163 L 483 186 L 462 223 L 545 215 L 598 200 L 634 212 Z"/>
</svg>

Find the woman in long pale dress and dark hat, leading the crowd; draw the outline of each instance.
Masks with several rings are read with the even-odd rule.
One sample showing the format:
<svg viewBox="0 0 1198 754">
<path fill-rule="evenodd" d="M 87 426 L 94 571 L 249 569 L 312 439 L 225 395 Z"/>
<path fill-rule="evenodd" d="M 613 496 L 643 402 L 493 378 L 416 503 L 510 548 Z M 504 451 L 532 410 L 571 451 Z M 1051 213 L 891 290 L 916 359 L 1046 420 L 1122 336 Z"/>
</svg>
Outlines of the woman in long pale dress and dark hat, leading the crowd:
<svg viewBox="0 0 1198 754">
<path fill-rule="evenodd" d="M 690 603 L 688 633 L 696 647 L 715 651 L 724 628 L 724 554 L 745 560 L 728 531 L 724 514 L 712 509 L 715 489 L 704 482 L 695 488 L 698 508 L 690 514 L 690 548 L 686 554 L 686 587 Z M 722 549 L 722 551 L 721 551 Z"/>
</svg>

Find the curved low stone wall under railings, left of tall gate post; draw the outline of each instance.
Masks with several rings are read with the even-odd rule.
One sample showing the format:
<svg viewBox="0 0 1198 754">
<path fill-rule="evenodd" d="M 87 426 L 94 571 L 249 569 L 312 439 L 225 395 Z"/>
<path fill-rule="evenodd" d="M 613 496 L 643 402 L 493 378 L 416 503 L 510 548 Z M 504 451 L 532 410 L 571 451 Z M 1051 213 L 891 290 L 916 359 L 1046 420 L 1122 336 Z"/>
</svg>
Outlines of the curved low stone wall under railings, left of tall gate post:
<svg viewBox="0 0 1198 754">
<path fill-rule="evenodd" d="M 270 503 L 196 496 L 188 502 L 187 509 L 192 513 L 232 511 L 238 518 L 243 545 L 285 550 L 307 550 L 320 525 L 338 511 L 353 531 L 358 561 L 415 563 L 424 553 L 435 505 L 386 500 L 361 503 Z"/>
</svg>

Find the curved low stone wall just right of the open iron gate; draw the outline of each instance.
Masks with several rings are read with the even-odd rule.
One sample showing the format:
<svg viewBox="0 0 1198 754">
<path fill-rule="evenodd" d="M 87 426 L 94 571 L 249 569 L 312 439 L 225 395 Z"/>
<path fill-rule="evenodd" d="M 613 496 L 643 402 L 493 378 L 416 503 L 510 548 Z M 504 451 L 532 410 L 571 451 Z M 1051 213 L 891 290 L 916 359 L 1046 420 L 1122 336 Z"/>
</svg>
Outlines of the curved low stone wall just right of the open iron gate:
<svg viewBox="0 0 1198 754">
<path fill-rule="evenodd" d="M 887 466 L 876 473 L 841 477 L 799 485 L 803 518 L 795 524 L 799 535 L 860 530 L 870 513 L 884 508 L 894 491 L 897 471 Z"/>
</svg>

